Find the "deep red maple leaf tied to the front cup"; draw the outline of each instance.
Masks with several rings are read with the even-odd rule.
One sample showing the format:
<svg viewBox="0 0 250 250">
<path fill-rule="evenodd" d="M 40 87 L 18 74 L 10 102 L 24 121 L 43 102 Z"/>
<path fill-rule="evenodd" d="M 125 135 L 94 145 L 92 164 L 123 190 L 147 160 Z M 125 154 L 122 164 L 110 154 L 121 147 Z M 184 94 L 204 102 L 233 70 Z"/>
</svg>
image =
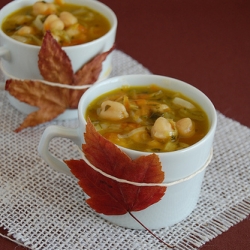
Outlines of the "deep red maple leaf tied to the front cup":
<svg viewBox="0 0 250 250">
<path fill-rule="evenodd" d="M 111 176 L 137 183 L 162 183 L 164 180 L 157 155 L 131 160 L 116 145 L 96 132 L 90 121 L 87 124 L 85 141 L 82 150 L 86 158 Z M 166 187 L 135 186 L 112 180 L 92 169 L 84 160 L 65 162 L 90 197 L 86 202 L 98 213 L 122 215 L 140 211 L 157 203 L 166 191 Z"/>
</svg>

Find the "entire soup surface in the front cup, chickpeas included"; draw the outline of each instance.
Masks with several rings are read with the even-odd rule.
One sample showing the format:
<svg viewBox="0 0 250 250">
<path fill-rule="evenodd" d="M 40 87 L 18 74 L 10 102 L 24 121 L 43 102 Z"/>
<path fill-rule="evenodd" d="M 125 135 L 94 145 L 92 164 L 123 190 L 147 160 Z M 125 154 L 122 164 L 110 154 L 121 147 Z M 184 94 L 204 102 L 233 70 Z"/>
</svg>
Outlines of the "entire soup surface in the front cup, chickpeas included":
<svg viewBox="0 0 250 250">
<path fill-rule="evenodd" d="M 85 118 L 106 139 L 145 152 L 176 151 L 208 132 L 205 112 L 193 101 L 156 85 L 123 86 L 95 99 Z"/>
</svg>

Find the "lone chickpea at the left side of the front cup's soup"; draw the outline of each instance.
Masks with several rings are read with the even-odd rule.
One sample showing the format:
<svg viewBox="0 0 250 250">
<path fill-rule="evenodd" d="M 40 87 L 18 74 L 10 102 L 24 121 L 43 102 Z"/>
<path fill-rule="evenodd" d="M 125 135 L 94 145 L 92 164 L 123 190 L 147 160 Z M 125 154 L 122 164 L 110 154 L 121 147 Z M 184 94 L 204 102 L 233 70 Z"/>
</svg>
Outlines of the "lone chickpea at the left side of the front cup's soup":
<svg viewBox="0 0 250 250">
<path fill-rule="evenodd" d="M 127 118 L 129 115 L 123 104 L 108 100 L 101 104 L 99 116 L 103 119 L 118 121 Z"/>
</svg>

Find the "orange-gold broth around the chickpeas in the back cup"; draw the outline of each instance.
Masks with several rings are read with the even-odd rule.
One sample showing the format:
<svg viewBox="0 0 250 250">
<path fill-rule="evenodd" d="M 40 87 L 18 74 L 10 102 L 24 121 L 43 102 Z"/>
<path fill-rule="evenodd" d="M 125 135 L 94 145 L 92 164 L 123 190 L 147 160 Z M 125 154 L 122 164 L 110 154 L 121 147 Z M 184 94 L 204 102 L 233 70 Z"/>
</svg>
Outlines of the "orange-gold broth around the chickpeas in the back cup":
<svg viewBox="0 0 250 250">
<path fill-rule="evenodd" d="M 67 11 L 77 18 L 77 23 L 70 27 L 50 30 L 61 46 L 87 43 L 100 38 L 110 30 L 107 18 L 86 6 L 68 3 L 54 5 L 56 11 L 52 14 L 59 16 L 61 12 Z M 33 6 L 27 6 L 7 16 L 2 23 L 2 30 L 20 42 L 40 46 L 45 33 L 43 24 L 51 13 L 35 15 L 32 8 Z M 23 26 L 31 27 L 32 32 L 19 34 L 18 30 Z"/>
</svg>

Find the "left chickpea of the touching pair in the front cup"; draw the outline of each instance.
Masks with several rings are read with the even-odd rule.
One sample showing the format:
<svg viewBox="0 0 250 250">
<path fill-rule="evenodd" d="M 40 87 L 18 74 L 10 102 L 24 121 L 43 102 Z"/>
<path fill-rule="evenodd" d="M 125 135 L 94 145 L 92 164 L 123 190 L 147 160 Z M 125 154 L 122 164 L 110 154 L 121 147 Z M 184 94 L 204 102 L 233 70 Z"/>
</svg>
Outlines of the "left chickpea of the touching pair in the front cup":
<svg viewBox="0 0 250 250">
<path fill-rule="evenodd" d="M 175 140 L 177 137 L 175 123 L 172 120 L 159 117 L 151 128 L 151 137 L 160 142 Z"/>
</svg>

